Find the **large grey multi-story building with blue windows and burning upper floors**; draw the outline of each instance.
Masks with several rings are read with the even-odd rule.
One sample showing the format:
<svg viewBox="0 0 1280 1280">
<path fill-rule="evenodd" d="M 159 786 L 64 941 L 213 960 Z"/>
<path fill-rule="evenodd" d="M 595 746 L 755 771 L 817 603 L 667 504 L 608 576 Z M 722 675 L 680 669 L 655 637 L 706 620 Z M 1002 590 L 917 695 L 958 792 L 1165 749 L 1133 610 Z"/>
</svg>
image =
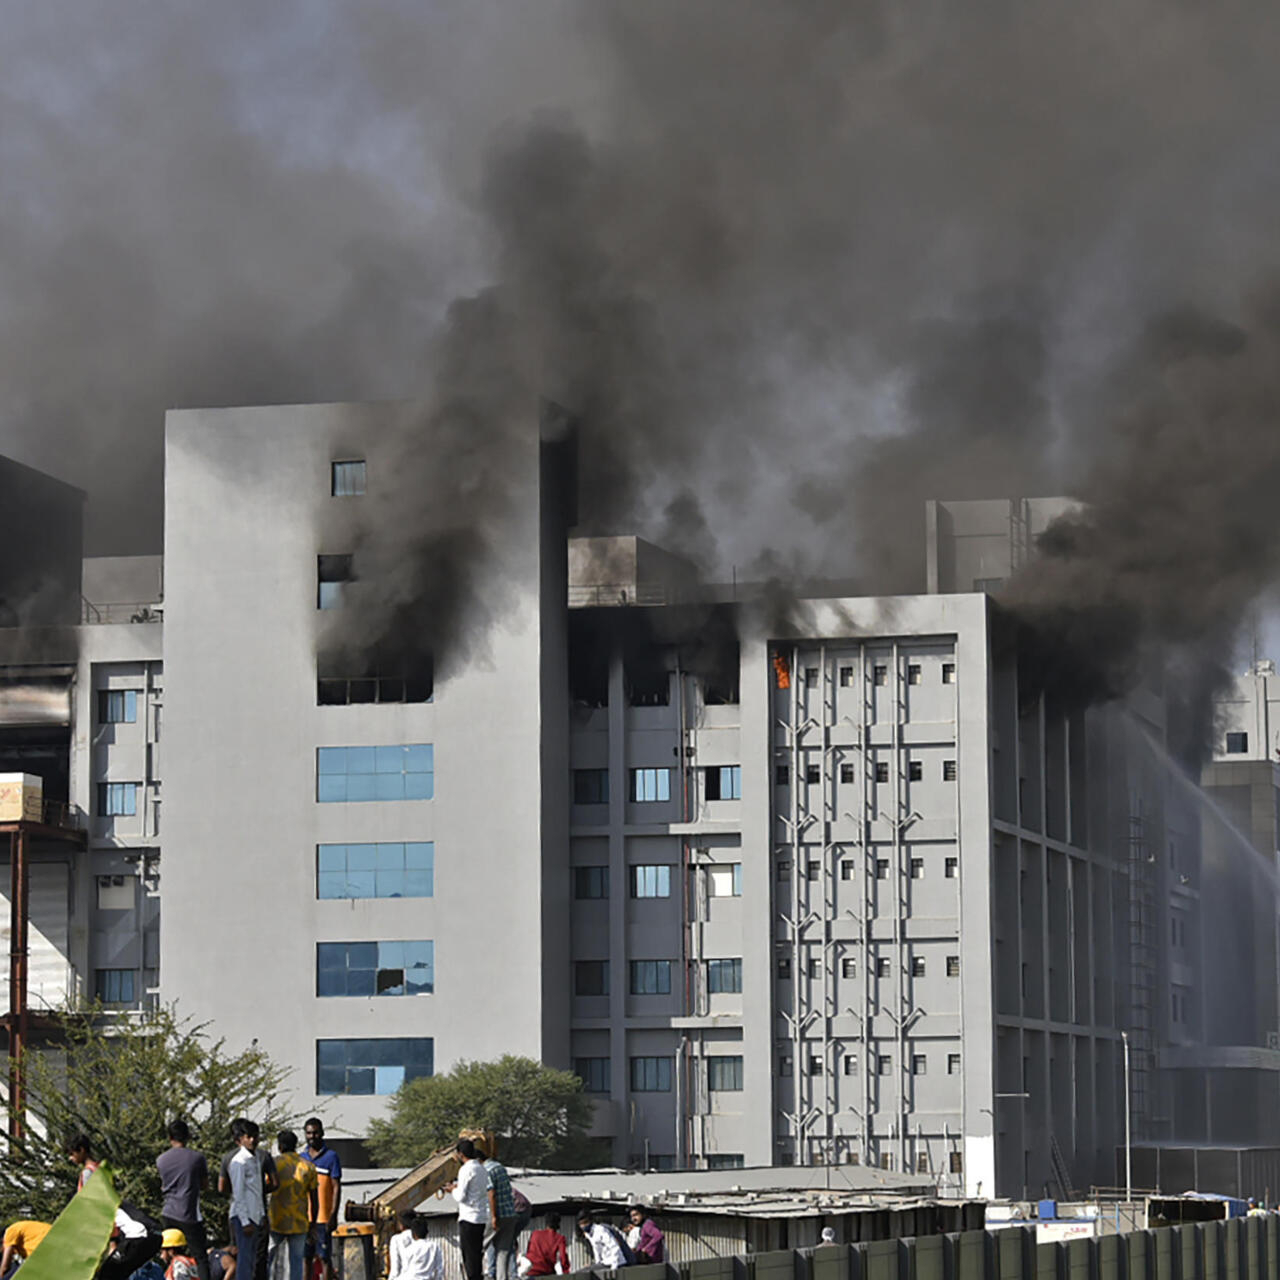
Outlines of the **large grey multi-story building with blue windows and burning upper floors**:
<svg viewBox="0 0 1280 1280">
<path fill-rule="evenodd" d="M 76 632 L 68 991 L 256 1039 L 353 1137 L 513 1052 L 581 1075 L 618 1164 L 1064 1190 L 1115 1176 L 1121 1032 L 1135 1137 L 1174 1134 L 1208 1028 L 1161 699 L 1057 703 L 987 594 L 1060 504 L 936 504 L 932 594 L 774 627 L 636 539 L 566 544 L 530 430 L 497 621 L 438 678 L 337 669 L 394 413 L 170 415 L 163 625 Z"/>
</svg>

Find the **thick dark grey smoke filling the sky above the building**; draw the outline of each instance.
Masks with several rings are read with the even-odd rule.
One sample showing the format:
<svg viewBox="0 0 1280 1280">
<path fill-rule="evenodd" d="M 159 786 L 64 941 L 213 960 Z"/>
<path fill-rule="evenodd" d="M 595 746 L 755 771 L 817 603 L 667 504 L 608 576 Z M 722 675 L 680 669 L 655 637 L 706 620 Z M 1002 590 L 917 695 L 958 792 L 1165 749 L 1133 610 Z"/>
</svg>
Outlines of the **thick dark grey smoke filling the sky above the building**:
<svg viewBox="0 0 1280 1280">
<path fill-rule="evenodd" d="M 5 443 L 93 477 L 101 549 L 154 541 L 165 406 L 421 397 L 358 554 L 367 627 L 426 594 L 431 648 L 500 611 L 476 582 L 544 401 L 584 526 L 713 576 L 910 590 L 924 498 L 1071 492 L 1093 516 L 1015 599 L 1105 623 L 1106 681 L 1271 580 L 1230 497 L 1268 447 L 1210 458 L 1272 422 L 1268 5 L 8 17 Z"/>
</svg>

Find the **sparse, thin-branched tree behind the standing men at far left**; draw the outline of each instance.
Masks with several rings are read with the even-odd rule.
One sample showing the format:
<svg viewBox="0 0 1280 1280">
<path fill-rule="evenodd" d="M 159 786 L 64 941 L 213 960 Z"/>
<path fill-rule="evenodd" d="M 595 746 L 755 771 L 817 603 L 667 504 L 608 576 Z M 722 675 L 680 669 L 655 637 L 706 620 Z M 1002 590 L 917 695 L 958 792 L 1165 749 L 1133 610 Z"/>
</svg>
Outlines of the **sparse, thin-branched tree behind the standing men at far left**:
<svg viewBox="0 0 1280 1280">
<path fill-rule="evenodd" d="M 76 1190 L 65 1143 L 77 1133 L 93 1140 L 95 1157 L 110 1161 L 120 1194 L 159 1216 L 155 1160 L 177 1119 L 210 1161 L 205 1217 L 215 1228 L 225 1222 L 214 1184 L 230 1121 L 248 1116 L 264 1135 L 283 1128 L 291 1119 L 282 1094 L 287 1073 L 256 1044 L 230 1052 L 207 1024 L 172 1007 L 113 1023 L 96 1009 L 55 1016 L 65 1047 L 27 1052 L 27 1133 L 0 1148 L 0 1222 L 52 1221 Z"/>
</svg>

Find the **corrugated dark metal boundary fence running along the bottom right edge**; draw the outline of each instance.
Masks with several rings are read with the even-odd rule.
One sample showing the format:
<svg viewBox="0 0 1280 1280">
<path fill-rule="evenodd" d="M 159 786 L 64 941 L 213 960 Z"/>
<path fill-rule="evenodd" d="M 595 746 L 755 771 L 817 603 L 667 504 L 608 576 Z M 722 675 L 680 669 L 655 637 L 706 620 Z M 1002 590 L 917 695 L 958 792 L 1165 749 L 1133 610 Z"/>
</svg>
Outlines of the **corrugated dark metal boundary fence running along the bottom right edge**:
<svg viewBox="0 0 1280 1280">
<path fill-rule="evenodd" d="M 1280 1280 L 1280 1215 L 1036 1243 L 1034 1226 L 961 1231 L 678 1265 L 576 1271 L 575 1280 Z"/>
</svg>

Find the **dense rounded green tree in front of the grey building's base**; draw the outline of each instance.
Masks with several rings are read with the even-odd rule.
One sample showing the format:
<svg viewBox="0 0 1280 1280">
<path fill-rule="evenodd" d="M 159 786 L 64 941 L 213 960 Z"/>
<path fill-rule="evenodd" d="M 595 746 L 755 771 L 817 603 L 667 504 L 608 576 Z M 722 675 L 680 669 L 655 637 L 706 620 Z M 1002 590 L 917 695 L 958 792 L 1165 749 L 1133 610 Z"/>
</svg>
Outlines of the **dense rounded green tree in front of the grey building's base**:
<svg viewBox="0 0 1280 1280">
<path fill-rule="evenodd" d="M 591 1100 L 572 1071 L 507 1053 L 406 1080 L 390 1116 L 370 1125 L 369 1149 L 383 1165 L 416 1165 L 460 1129 L 489 1129 L 508 1165 L 581 1169 L 591 1155 L 590 1123 Z"/>
</svg>

